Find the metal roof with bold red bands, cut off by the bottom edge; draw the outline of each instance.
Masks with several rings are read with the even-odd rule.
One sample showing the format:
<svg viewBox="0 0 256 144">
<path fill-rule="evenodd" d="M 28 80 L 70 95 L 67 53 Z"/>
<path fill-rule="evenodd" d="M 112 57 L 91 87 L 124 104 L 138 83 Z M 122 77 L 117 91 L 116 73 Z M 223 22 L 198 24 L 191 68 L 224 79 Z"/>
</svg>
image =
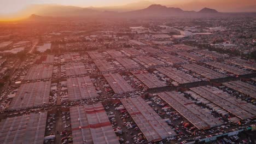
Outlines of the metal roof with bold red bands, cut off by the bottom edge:
<svg viewBox="0 0 256 144">
<path fill-rule="evenodd" d="M 71 107 L 73 143 L 119 143 L 101 103 Z"/>
</svg>

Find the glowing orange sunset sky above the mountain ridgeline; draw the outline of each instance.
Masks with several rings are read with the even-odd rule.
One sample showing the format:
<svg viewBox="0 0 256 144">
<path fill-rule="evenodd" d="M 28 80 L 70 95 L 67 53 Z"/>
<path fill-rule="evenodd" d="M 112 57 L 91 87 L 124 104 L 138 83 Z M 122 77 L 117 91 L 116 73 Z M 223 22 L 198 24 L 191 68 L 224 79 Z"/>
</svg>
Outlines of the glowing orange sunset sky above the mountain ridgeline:
<svg viewBox="0 0 256 144">
<path fill-rule="evenodd" d="M 213 8 L 221 12 L 255 12 L 255 0 L 128 0 L 128 1 L 35 1 L 35 0 L 10 0 L 0 2 L 0 20 L 13 20 L 28 17 L 31 14 L 36 14 L 38 11 L 47 11 L 50 5 L 66 5 L 80 8 L 90 8 L 96 10 L 109 10 L 109 11 L 131 11 L 148 7 L 152 4 L 166 5 L 167 7 L 181 8 L 183 10 L 198 11 L 202 8 Z M 40 6 L 39 6 L 40 5 Z M 47 7 L 46 7 L 47 6 Z M 64 15 L 63 15 L 64 16 Z"/>
</svg>

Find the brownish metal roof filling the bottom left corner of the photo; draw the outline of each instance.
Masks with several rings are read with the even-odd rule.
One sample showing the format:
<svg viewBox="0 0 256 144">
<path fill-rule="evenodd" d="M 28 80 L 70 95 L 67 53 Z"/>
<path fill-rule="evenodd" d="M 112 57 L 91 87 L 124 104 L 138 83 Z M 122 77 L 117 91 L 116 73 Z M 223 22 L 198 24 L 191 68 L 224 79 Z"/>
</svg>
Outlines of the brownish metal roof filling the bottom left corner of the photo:
<svg viewBox="0 0 256 144">
<path fill-rule="evenodd" d="M 47 112 L 2 119 L 0 122 L 0 143 L 42 144 L 46 118 Z"/>
</svg>

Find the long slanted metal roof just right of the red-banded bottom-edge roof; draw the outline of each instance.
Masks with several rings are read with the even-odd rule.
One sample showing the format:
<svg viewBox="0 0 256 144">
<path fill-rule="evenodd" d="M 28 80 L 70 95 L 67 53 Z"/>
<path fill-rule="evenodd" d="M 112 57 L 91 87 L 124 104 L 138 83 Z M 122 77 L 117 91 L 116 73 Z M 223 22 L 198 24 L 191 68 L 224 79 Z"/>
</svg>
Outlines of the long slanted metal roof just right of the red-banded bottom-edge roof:
<svg viewBox="0 0 256 144">
<path fill-rule="evenodd" d="M 148 141 L 160 141 L 176 135 L 141 97 L 121 99 L 121 103 Z"/>
</svg>

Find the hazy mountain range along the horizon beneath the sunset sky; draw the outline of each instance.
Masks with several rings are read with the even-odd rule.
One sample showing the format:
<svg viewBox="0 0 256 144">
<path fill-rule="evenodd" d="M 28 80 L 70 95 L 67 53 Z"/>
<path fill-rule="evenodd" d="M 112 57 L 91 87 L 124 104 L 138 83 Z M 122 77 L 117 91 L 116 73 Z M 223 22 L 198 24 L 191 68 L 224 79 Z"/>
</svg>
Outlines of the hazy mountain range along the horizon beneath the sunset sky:
<svg viewBox="0 0 256 144">
<path fill-rule="evenodd" d="M 141 3 L 140 3 L 141 4 Z M 143 4 L 150 4 L 146 1 Z M 127 5 L 126 5 L 127 6 Z M 130 5 L 131 6 L 131 5 Z M 110 9 L 110 8 L 109 8 Z M 147 8 L 132 11 L 108 11 L 93 8 L 81 8 L 63 5 L 31 5 L 21 15 L 31 15 L 30 20 L 46 19 L 52 17 L 72 18 L 165 18 L 165 17 L 219 17 L 219 16 L 253 16 L 255 13 L 220 13 L 215 9 L 203 8 L 199 11 L 185 11 L 180 8 L 166 7 L 160 4 L 152 4 Z"/>
</svg>

